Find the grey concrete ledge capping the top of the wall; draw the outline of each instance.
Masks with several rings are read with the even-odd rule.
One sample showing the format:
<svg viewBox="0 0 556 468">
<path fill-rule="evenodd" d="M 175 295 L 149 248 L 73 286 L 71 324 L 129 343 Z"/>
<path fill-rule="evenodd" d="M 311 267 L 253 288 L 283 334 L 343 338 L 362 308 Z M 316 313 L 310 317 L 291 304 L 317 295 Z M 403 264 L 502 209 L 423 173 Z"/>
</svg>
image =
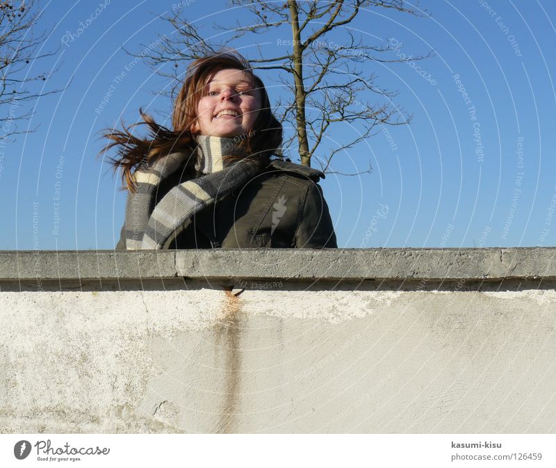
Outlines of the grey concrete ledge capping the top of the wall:
<svg viewBox="0 0 556 468">
<path fill-rule="evenodd" d="M 1 280 L 554 280 L 556 248 L 0 252 Z"/>
</svg>

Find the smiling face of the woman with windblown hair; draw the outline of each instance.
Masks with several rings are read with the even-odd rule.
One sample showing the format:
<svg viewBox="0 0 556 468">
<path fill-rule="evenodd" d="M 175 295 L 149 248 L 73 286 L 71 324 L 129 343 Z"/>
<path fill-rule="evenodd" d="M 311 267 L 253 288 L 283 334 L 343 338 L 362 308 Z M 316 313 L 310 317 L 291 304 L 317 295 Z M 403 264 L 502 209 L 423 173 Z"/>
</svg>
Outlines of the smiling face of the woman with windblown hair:
<svg viewBox="0 0 556 468">
<path fill-rule="evenodd" d="M 247 73 L 225 68 L 205 86 L 191 127 L 194 134 L 234 137 L 252 131 L 261 96 Z"/>
</svg>

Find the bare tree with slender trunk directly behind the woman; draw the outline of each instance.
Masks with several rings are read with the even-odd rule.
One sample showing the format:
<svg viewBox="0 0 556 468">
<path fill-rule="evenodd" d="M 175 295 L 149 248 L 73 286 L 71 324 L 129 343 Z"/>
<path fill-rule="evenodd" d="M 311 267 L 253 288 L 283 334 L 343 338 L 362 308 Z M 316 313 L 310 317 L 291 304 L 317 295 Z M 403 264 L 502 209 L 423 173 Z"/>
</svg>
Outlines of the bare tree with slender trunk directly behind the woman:
<svg viewBox="0 0 556 468">
<path fill-rule="evenodd" d="M 385 8 L 409 15 L 423 15 L 418 6 L 411 6 L 404 0 L 287 0 L 284 3 L 231 0 L 230 7 L 243 7 L 236 10 L 241 11 L 242 19 L 245 10 L 248 10 L 253 20 L 243 19 L 231 27 L 214 25 L 217 31 L 233 31 L 231 37 L 226 36 L 226 45 L 233 44 L 234 40 L 247 33 L 261 34 L 271 29 L 285 32 L 290 38 L 277 44 L 284 46 L 283 54 L 268 57 L 259 45 L 259 56 L 247 58 L 254 69 L 277 70 L 279 80 L 290 91 L 288 98 L 280 99 L 275 108 L 279 120 L 282 123 L 291 122 L 295 129 L 283 147 L 287 149 L 297 140 L 302 164 L 311 165 L 311 156 L 333 124 L 359 124 L 361 130 L 357 138 L 342 143 L 325 156 L 321 162 L 323 170 L 329 168 L 334 154 L 375 135 L 379 131 L 377 126 L 407 124 L 411 120 L 410 115 L 400 115 L 391 104 L 390 100 L 397 92 L 378 86 L 377 75 L 363 74 L 357 64 L 420 60 L 431 56 L 432 52 L 426 56 L 409 57 L 393 54 L 398 45 L 391 45 L 386 40 L 379 45 L 369 45 L 354 36 L 350 23 L 363 9 Z M 159 35 L 161 46 L 145 48 L 140 56 L 158 74 L 177 80 L 175 91 L 181 82 L 179 70 L 183 70 L 179 65 L 207 52 L 221 51 L 222 44 L 204 40 L 197 26 L 179 9 L 164 19 L 170 22 L 173 33 Z M 332 31 L 343 35 L 341 44 L 329 40 Z M 174 63 L 172 71 L 161 71 L 161 65 L 167 63 Z M 366 93 L 378 95 L 382 101 L 370 104 L 362 97 Z"/>
</svg>

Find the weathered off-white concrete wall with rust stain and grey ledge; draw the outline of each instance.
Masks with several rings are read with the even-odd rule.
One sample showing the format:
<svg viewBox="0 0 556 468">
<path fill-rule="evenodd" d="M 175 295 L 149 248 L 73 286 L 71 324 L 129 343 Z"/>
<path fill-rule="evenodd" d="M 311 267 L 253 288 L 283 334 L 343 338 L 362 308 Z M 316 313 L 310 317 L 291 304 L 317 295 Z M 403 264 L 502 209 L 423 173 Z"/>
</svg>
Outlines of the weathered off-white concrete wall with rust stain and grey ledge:
<svg viewBox="0 0 556 468">
<path fill-rule="evenodd" d="M 555 259 L 0 252 L 0 431 L 554 433 Z"/>
</svg>

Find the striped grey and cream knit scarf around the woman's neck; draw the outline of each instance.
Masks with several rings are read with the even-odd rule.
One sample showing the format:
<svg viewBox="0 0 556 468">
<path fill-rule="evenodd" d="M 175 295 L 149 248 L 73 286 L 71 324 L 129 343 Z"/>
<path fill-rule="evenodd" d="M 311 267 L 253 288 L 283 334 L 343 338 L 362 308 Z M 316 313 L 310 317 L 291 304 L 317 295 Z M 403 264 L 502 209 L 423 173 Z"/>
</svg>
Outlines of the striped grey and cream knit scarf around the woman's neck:
<svg viewBox="0 0 556 468">
<path fill-rule="evenodd" d="M 195 213 L 234 190 L 243 187 L 258 166 L 248 164 L 247 154 L 234 138 L 197 136 L 193 153 L 176 152 L 158 159 L 152 167 L 134 172 L 136 192 L 129 192 L 126 205 L 126 248 L 155 250 L 167 247 L 172 234 Z M 222 156 L 243 156 L 226 163 Z M 154 200 L 161 182 L 182 170 L 190 157 L 197 157 L 195 169 L 202 176 L 174 186 L 156 207 Z M 175 236 L 174 236 L 175 237 Z"/>
</svg>

